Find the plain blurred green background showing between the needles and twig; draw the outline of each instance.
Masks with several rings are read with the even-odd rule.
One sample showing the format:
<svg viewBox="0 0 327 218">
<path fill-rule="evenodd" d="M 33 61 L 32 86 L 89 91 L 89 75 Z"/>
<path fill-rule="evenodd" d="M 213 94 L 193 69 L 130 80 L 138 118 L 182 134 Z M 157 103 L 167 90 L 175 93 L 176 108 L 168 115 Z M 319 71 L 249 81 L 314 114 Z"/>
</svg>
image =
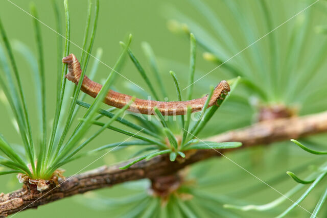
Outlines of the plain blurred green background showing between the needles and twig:
<svg viewBox="0 0 327 218">
<path fill-rule="evenodd" d="M 29 2 L 26 0 L 14 1 L 14 4 L 19 6 L 22 10 L 29 11 Z M 39 18 L 45 25 L 50 28 L 55 28 L 55 21 L 53 16 L 53 8 L 51 1 L 33 1 L 36 4 L 38 9 Z M 238 33 L 238 29 L 235 26 L 235 21 L 229 19 L 230 14 L 223 7 L 219 7 L 216 1 L 205 1 L 209 6 L 213 8 L 216 14 L 218 14 L 224 21 L 225 25 L 229 28 L 229 31 L 235 35 L 235 42 L 237 43 L 237 47 L 242 50 L 247 44 L 244 42 L 242 36 Z M 239 1 L 240 2 L 240 1 Z M 253 4 L 253 0 L 247 0 L 247 3 L 244 4 L 248 7 L 248 12 L 255 18 L 258 16 L 256 11 L 251 11 L 251 4 Z M 303 8 L 302 1 L 287 1 L 284 2 L 283 5 L 272 4 L 273 7 L 273 17 L 276 23 L 282 23 L 286 19 L 290 18 L 294 14 L 296 14 L 299 9 Z M 58 1 L 62 21 L 64 21 L 63 16 L 63 4 L 62 1 Z M 84 32 L 84 25 L 86 19 L 86 11 L 87 11 L 87 1 L 86 0 L 69 0 L 69 8 L 71 9 L 71 40 L 77 45 L 82 45 L 82 38 Z M 244 2 L 243 2 L 244 3 Z M 298 4 L 298 5 L 297 5 Z M 170 9 L 168 9 L 170 8 Z M 19 40 L 26 43 L 34 52 L 36 51 L 36 45 L 34 42 L 34 32 L 32 29 L 32 17 L 30 17 L 27 13 L 22 11 L 21 9 L 15 7 L 9 1 L 3 0 L 0 2 L 0 16 L 2 18 L 3 24 L 7 31 L 9 39 L 13 42 L 14 40 Z M 202 27 L 206 28 L 209 32 L 213 32 L 211 27 L 208 25 L 207 21 L 199 15 L 199 12 L 192 7 L 188 1 L 151 1 L 151 0 L 143 0 L 143 1 L 100 1 L 100 16 L 98 23 L 98 31 L 96 35 L 96 41 L 94 44 L 94 49 L 92 54 L 95 55 L 96 49 L 98 47 L 102 47 L 103 49 L 103 57 L 102 61 L 109 66 L 113 66 L 116 59 L 118 58 L 121 46 L 119 45 L 120 40 L 125 40 L 129 33 L 133 34 L 133 40 L 131 48 L 139 59 L 141 63 L 144 63 L 144 67 L 147 71 L 149 71 L 147 64 L 145 64 L 145 56 L 141 49 L 141 42 L 147 41 L 152 45 L 152 48 L 155 54 L 158 57 L 159 67 L 161 70 L 161 74 L 164 77 L 164 82 L 166 88 L 170 96 L 175 96 L 175 88 L 173 87 L 173 83 L 171 81 L 171 77 L 169 75 L 169 70 L 174 70 L 180 79 L 181 87 L 185 87 L 187 84 L 188 78 L 188 62 L 189 62 L 189 41 L 184 37 L 180 37 L 178 35 L 172 34 L 167 28 L 167 20 L 170 19 L 171 14 L 173 13 L 172 9 L 177 9 L 184 14 L 192 17 L 198 23 L 201 23 Z M 322 12 L 318 7 L 314 9 L 314 21 L 311 27 L 314 28 L 315 25 L 320 25 L 322 20 L 320 19 Z M 280 14 L 279 14 L 280 12 Z M 325 20 L 325 16 L 324 16 Z M 260 21 L 260 20 L 259 20 Z M 279 28 L 278 35 L 283 36 L 285 38 L 289 37 L 288 29 L 294 25 L 295 19 L 289 21 L 284 26 Z M 44 44 L 44 54 L 45 54 L 45 66 L 46 66 L 46 95 L 47 105 L 48 105 L 48 119 L 51 120 L 52 114 L 54 114 L 55 109 L 55 89 L 56 89 L 56 73 L 59 73 L 57 68 L 57 34 L 53 32 L 48 27 L 43 25 L 40 26 L 43 37 Z M 253 27 L 253 30 L 264 35 L 264 28 L 261 26 Z M 197 35 L 196 35 L 197 37 Z M 263 39 L 260 43 L 266 43 L 266 39 Z M 310 39 L 308 39 L 310 40 Z M 285 41 L 278 41 L 280 47 L 284 47 Z M 318 47 L 319 41 L 310 41 L 313 46 Z M 216 67 L 215 64 L 208 63 L 202 59 L 201 49 L 198 50 L 197 57 L 197 65 L 196 65 L 196 78 L 200 78 L 206 72 L 212 70 Z M 76 56 L 80 56 L 80 49 L 75 45 L 71 45 L 71 53 L 76 54 Z M 239 56 L 247 56 L 248 51 L 241 53 Z M 310 54 L 309 54 L 310 55 Z M 34 99 L 34 90 L 33 90 L 33 80 L 31 79 L 30 69 L 28 65 L 24 62 L 24 60 L 16 55 L 19 72 L 22 77 L 22 81 L 24 84 L 24 90 L 26 91 L 27 103 L 30 111 L 30 115 L 35 116 L 35 99 Z M 236 57 L 238 58 L 238 57 Z M 287 57 L 285 57 L 287 58 Z M 90 63 L 94 59 L 90 59 Z M 96 81 L 101 81 L 107 77 L 110 69 L 105 65 L 100 64 L 98 74 L 96 77 Z M 121 71 L 126 78 L 132 80 L 137 85 L 146 89 L 146 84 L 142 80 L 141 76 L 139 76 L 138 72 L 128 60 L 126 61 L 126 65 L 124 69 Z M 216 69 L 204 80 L 201 80 L 199 83 L 195 84 L 195 95 L 201 96 L 204 93 L 208 92 L 209 85 L 216 85 L 221 79 L 231 79 L 226 78 L 225 72 L 223 69 Z M 124 88 L 124 85 L 128 83 L 122 77 L 118 77 L 118 80 L 115 83 L 115 87 L 119 88 L 121 91 L 125 91 L 128 94 L 133 94 L 128 89 Z M 176 99 L 172 99 L 176 100 Z M 90 102 L 90 99 L 87 99 Z M 226 103 L 227 104 L 227 103 Z M 241 106 L 240 106 L 241 107 Z M 222 111 L 218 111 L 215 115 L 215 121 L 211 122 L 206 129 L 203 131 L 203 137 L 213 135 L 223 130 L 230 129 L 230 127 L 242 127 L 250 125 L 255 114 L 253 108 L 251 107 L 242 107 L 239 108 L 237 104 L 231 107 L 232 109 L 228 110 L 228 113 L 224 109 Z M 301 113 L 312 113 L 324 110 L 325 107 L 320 107 L 320 109 L 308 109 L 304 110 Z M 83 109 L 81 110 L 83 111 Z M 34 113 L 34 114 L 33 114 Z M 224 116 L 224 122 L 219 122 L 219 117 Z M 36 122 L 34 122 L 36 123 Z M 232 124 L 232 125 L 231 125 Z M 20 143 L 20 137 L 12 125 L 12 119 L 10 113 L 7 108 L 0 106 L 0 132 L 6 137 L 8 141 L 11 143 Z M 102 134 L 96 140 L 94 140 L 91 144 L 89 144 L 88 148 L 96 148 L 97 146 L 101 146 L 106 143 L 115 142 L 118 140 L 125 139 L 127 137 L 119 135 L 118 133 L 114 133 L 112 131 L 107 131 L 105 134 Z M 321 139 L 320 139 L 321 138 Z M 318 137 L 312 137 L 312 140 L 322 141 L 324 139 L 324 135 Z M 287 150 L 285 148 L 288 148 Z M 121 154 L 120 152 L 114 152 L 106 155 L 104 158 L 95 162 L 87 169 L 92 169 L 103 164 L 112 164 L 121 160 L 124 160 L 126 156 Z M 283 142 L 283 143 L 275 143 L 273 146 L 268 148 L 255 148 L 248 149 L 247 151 L 240 151 L 233 154 L 229 154 L 228 157 L 232 160 L 235 160 L 238 164 L 247 168 L 251 173 L 258 176 L 259 178 L 265 180 L 271 178 L 271 175 L 283 175 L 282 183 L 272 185 L 277 190 L 282 193 L 286 192 L 290 189 L 290 187 L 294 186 L 294 182 L 291 179 L 287 178 L 285 172 L 292 167 L 298 166 L 300 163 L 303 164 L 307 161 L 313 159 L 312 156 L 305 154 L 304 152 L 299 151 L 292 143 Z M 81 167 L 86 165 L 86 163 L 91 162 L 96 159 L 96 157 L 88 157 L 83 160 L 73 161 L 65 165 L 63 168 L 66 169 L 65 175 L 72 175 L 79 171 Z M 276 161 L 277 160 L 277 161 Z M 254 178 L 253 176 L 247 174 L 246 172 L 239 169 L 238 166 L 231 163 L 226 159 L 216 159 L 210 160 L 208 162 L 214 168 L 208 173 L 210 175 L 225 175 L 228 172 L 234 172 L 237 174 L 235 177 L 230 177 L 227 182 L 222 182 L 216 186 L 204 187 L 207 188 L 210 192 L 215 192 L 219 195 L 220 192 L 232 192 L 242 187 L 251 186 L 255 184 L 261 184 L 261 182 Z M 222 179 L 225 176 L 222 176 Z M 227 177 L 227 176 L 226 176 Z M 240 181 L 242 178 L 242 181 Z M 217 181 L 218 183 L 219 181 Z M 106 188 L 97 190 L 96 192 L 102 196 L 108 197 L 117 197 L 117 196 L 127 196 L 130 193 L 129 189 L 126 189 L 126 186 L 133 186 L 133 183 L 128 183 L 127 185 L 116 186 L 114 188 Z M 0 192 L 9 192 L 21 187 L 21 184 L 18 183 L 17 179 L 12 176 L 1 176 L 0 177 Z M 226 191 L 228 190 L 228 191 Z M 88 194 L 90 195 L 90 194 Z M 312 193 L 308 199 L 306 199 L 301 205 L 309 210 L 315 205 L 315 201 L 319 198 L 319 191 L 316 193 Z M 271 200 L 278 198 L 280 195 L 272 190 L 271 188 L 263 188 L 260 192 L 249 193 L 243 199 L 248 200 L 249 202 L 255 202 L 257 204 L 263 204 L 270 202 Z M 295 197 L 292 197 L 295 200 Z M 108 211 L 105 208 L 92 208 L 87 207 L 87 201 L 92 201 L 91 198 L 84 198 L 83 196 L 74 196 L 72 198 L 67 198 L 60 200 L 58 202 L 54 202 L 48 205 L 40 206 L 37 210 L 27 210 L 21 213 L 16 214 L 16 217 L 114 217 L 116 214 L 120 214 L 121 211 Z M 291 202 L 286 202 L 285 205 L 282 205 L 281 208 L 287 208 Z M 325 211 L 322 211 L 322 214 Z M 307 213 L 303 212 L 301 208 L 296 208 L 295 213 L 296 216 L 307 217 Z M 270 217 L 272 214 L 266 213 L 239 213 L 239 215 L 243 217 Z"/>
</svg>

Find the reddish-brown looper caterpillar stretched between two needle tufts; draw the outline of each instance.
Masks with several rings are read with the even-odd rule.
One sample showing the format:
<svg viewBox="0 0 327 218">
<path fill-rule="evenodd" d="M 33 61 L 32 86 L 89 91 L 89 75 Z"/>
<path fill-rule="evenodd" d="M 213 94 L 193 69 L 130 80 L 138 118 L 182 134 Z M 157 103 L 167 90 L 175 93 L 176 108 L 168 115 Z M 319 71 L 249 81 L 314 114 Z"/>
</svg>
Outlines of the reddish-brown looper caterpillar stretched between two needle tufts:
<svg viewBox="0 0 327 218">
<path fill-rule="evenodd" d="M 77 85 L 82 72 L 79 61 L 77 60 L 74 54 L 70 54 L 69 56 L 63 58 L 62 62 L 68 64 L 69 72 L 65 77 L 69 81 L 72 81 Z M 101 88 L 102 85 L 90 80 L 87 76 L 84 76 L 83 83 L 81 86 L 81 90 L 83 92 L 92 96 L 93 98 L 96 98 Z M 211 107 L 216 104 L 222 93 L 227 94 L 229 91 L 230 87 L 228 83 L 225 80 L 221 81 L 216 86 L 213 96 L 209 101 L 208 107 Z M 104 103 L 116 108 L 122 108 L 131 100 L 131 98 L 132 96 L 130 95 L 109 90 L 104 100 Z M 135 99 L 135 101 L 133 102 L 133 104 L 130 105 L 128 110 L 134 113 L 153 115 L 155 114 L 153 109 L 154 107 L 157 107 L 163 115 L 183 115 L 186 114 L 186 109 L 188 106 L 192 108 L 192 112 L 200 111 L 203 108 L 206 99 L 207 95 L 203 96 L 200 99 L 193 99 L 190 101 L 183 102 L 159 102 L 152 100 Z"/>
</svg>

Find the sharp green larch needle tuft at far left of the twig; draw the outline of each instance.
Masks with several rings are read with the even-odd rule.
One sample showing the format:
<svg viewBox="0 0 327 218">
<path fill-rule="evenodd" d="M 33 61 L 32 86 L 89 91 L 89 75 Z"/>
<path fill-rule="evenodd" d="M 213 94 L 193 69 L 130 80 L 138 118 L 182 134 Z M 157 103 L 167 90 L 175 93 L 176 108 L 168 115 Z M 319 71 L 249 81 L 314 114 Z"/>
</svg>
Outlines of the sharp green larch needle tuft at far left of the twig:
<svg viewBox="0 0 327 218">
<path fill-rule="evenodd" d="M 88 60 L 90 57 L 90 52 L 92 49 L 92 45 L 95 40 L 95 34 L 96 34 L 96 27 L 98 23 L 98 14 L 99 14 L 99 1 L 95 1 L 95 18 L 94 23 L 92 25 L 92 32 L 90 36 L 90 42 L 86 50 L 87 45 L 87 37 L 88 37 L 88 31 L 90 26 L 90 17 L 91 17 L 91 2 L 89 2 L 89 11 L 88 11 L 88 17 L 87 17 L 87 25 L 85 30 L 85 36 L 84 36 L 84 42 L 83 42 L 83 52 L 82 52 L 82 74 L 84 75 L 86 72 L 86 68 L 88 65 Z M 55 2 L 53 2 L 54 10 L 55 10 L 55 17 L 57 21 L 57 31 L 61 32 L 61 23 L 60 23 L 60 14 L 58 10 L 58 6 Z M 69 42 L 70 42 L 70 19 L 69 19 L 69 9 L 67 1 L 64 1 L 64 7 L 65 7 L 65 17 L 66 17 L 66 33 L 65 33 L 65 49 L 63 52 L 64 56 L 67 56 L 69 54 Z M 34 5 L 31 5 L 31 13 L 34 17 L 37 17 L 37 11 Z M 46 143 L 47 137 L 46 137 L 46 126 L 47 126 L 47 120 L 46 120 L 46 105 L 45 105 L 45 74 L 44 74 L 44 55 L 43 55 L 43 47 L 42 47 L 42 39 L 41 39 L 41 30 L 39 27 L 39 22 L 33 18 L 33 24 L 35 29 L 35 36 L 36 36 L 36 44 L 37 44 L 37 51 L 38 51 L 38 60 L 36 61 L 33 58 L 33 55 L 31 54 L 29 48 L 25 46 L 22 43 L 16 43 L 15 46 L 19 46 L 20 53 L 27 59 L 27 61 L 31 64 L 32 70 L 33 70 L 33 78 L 35 79 L 35 89 L 36 89 L 36 95 L 35 98 L 37 100 L 38 105 L 38 115 L 39 115 L 39 128 L 40 131 L 37 133 L 38 141 L 36 143 L 36 147 L 34 146 L 33 137 L 32 137 L 32 130 L 31 130 L 31 124 L 30 119 L 28 116 L 28 110 L 26 106 L 26 100 L 24 96 L 24 91 L 22 90 L 22 85 L 20 82 L 19 77 L 19 71 L 16 66 L 16 62 L 11 50 L 11 46 L 9 43 L 9 40 L 6 36 L 5 30 L 0 24 L 0 30 L 1 30 L 1 36 L 5 43 L 6 51 L 9 56 L 10 62 L 7 61 L 5 54 L 3 51 L 1 51 L 1 61 L 2 61 L 2 68 L 4 69 L 5 75 L 4 78 L 1 78 L 2 81 L 2 88 L 5 92 L 5 95 L 7 96 L 7 100 L 10 103 L 11 109 L 13 110 L 16 118 L 16 122 L 19 127 L 19 133 L 21 134 L 22 141 L 25 145 L 25 153 L 28 157 L 28 162 L 24 161 L 22 157 L 20 157 L 14 149 L 10 146 L 10 144 L 1 137 L 1 150 L 7 155 L 8 158 L 11 159 L 7 160 L 5 158 L 2 159 L 2 165 L 5 165 L 7 167 L 13 168 L 16 171 L 20 173 L 24 173 L 29 175 L 31 178 L 43 178 L 48 179 L 52 176 L 53 172 L 61 165 L 63 162 L 67 162 L 66 160 L 73 157 L 81 148 L 83 148 L 90 140 L 95 138 L 97 134 L 94 136 L 91 136 L 86 141 L 84 141 L 82 144 L 80 144 L 79 147 L 77 147 L 74 151 L 72 149 L 76 147 L 77 142 L 80 141 L 81 135 L 83 135 L 88 127 L 91 125 L 89 122 L 96 114 L 100 103 L 102 102 L 102 99 L 104 98 L 107 90 L 109 89 L 112 81 L 111 77 L 113 75 L 113 72 L 109 75 L 107 82 L 104 86 L 104 88 L 99 93 L 98 98 L 94 101 L 94 103 L 89 106 L 88 111 L 86 112 L 84 119 L 80 121 L 77 128 L 75 129 L 73 135 L 71 135 L 66 142 L 64 141 L 66 133 L 68 132 L 69 128 L 71 127 L 72 120 L 74 119 L 74 115 L 76 114 L 76 102 L 79 96 L 80 92 L 80 86 L 81 82 L 79 83 L 79 86 L 75 88 L 73 92 L 73 99 L 71 101 L 71 105 L 69 106 L 68 115 L 66 117 L 66 120 L 62 118 L 62 111 L 64 107 L 64 103 L 68 101 L 69 99 L 64 99 L 64 92 L 65 92 L 65 86 L 66 86 L 66 79 L 64 77 L 65 72 L 67 71 L 67 66 L 62 65 L 62 73 L 58 76 L 58 85 L 57 85 L 57 104 L 56 104 L 56 112 L 55 112 L 55 118 L 53 122 L 52 131 L 49 138 L 49 144 Z M 61 50 L 61 42 L 60 39 L 61 36 L 58 36 L 58 61 L 61 62 L 62 58 L 62 50 Z M 130 39 L 128 41 L 128 45 L 130 43 Z M 18 49 L 18 48 L 17 48 Z M 120 65 L 122 60 L 124 59 L 124 54 L 122 53 L 118 63 L 115 65 L 113 70 L 117 69 Z M 8 66 L 8 63 L 11 63 L 12 65 L 12 73 L 10 72 L 10 68 Z M 59 67 L 59 66 L 58 66 Z M 97 65 L 94 66 L 94 68 L 97 68 Z M 93 72 L 94 74 L 94 72 Z M 3 77 L 3 74 L 1 75 Z M 17 82 L 17 85 L 14 84 L 14 79 Z M 3 83 L 3 81 L 6 81 L 6 83 Z M 8 84 L 8 85 L 7 85 Z M 111 124 L 120 114 L 122 114 L 128 106 L 125 108 L 119 110 L 118 113 L 111 116 L 111 120 L 108 122 L 107 125 Z M 64 124 L 63 131 L 58 131 L 59 128 Z M 105 127 L 106 127 L 105 126 Z M 102 130 L 103 131 L 103 130 Z M 99 133 L 101 131 L 98 131 Z M 98 133 L 98 134 L 99 134 Z M 60 135 L 58 135 L 60 134 Z M 38 155 L 37 155 L 37 162 L 34 164 L 34 160 L 36 159 L 36 152 L 38 149 Z M 27 167 L 27 165 L 30 164 L 31 170 Z M 7 173 L 13 173 L 10 171 L 5 171 L 3 174 Z"/>
</svg>

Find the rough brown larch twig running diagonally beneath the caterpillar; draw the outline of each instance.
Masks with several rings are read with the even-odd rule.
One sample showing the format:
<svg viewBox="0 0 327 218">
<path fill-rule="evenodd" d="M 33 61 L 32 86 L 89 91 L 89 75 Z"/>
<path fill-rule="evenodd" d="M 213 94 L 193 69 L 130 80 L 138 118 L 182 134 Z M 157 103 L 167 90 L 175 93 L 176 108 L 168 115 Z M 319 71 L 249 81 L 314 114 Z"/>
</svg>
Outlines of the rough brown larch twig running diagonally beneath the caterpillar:
<svg viewBox="0 0 327 218">
<path fill-rule="evenodd" d="M 275 141 L 299 138 L 307 135 L 327 131 L 327 111 L 319 114 L 303 117 L 282 118 L 258 123 L 243 129 L 229 131 L 208 140 L 214 141 L 241 141 L 246 148 L 258 144 L 269 144 Z M 112 186 L 126 181 L 138 179 L 155 179 L 165 175 L 173 175 L 185 166 L 219 156 L 222 152 L 230 150 L 197 150 L 190 151 L 183 160 L 171 162 L 166 155 L 155 157 L 149 161 L 141 161 L 130 168 L 122 170 L 122 163 L 115 166 L 103 166 L 92 171 L 85 172 L 67 178 L 60 187 L 53 190 L 38 192 L 36 187 L 24 186 L 22 189 L 0 195 L 0 216 L 6 216 L 25 210 L 36 208 L 65 197 L 84 193 L 107 186 Z M 62 181 L 61 181 L 62 182 Z M 53 184 L 52 188 L 55 187 Z"/>
</svg>

